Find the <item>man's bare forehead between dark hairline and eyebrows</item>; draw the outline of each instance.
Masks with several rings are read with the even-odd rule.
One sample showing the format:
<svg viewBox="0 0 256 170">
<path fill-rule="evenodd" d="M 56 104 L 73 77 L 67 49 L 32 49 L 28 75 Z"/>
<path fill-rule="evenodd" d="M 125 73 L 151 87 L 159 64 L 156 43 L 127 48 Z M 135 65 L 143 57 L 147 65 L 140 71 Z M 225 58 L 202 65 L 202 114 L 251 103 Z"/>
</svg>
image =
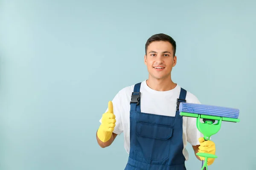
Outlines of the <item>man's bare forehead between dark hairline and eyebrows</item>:
<svg viewBox="0 0 256 170">
<path fill-rule="evenodd" d="M 169 51 L 169 52 L 172 52 L 172 44 L 168 41 L 154 41 L 154 42 L 151 42 L 148 45 L 147 52 L 150 52 L 150 51 L 156 51 L 156 52 Z"/>
</svg>

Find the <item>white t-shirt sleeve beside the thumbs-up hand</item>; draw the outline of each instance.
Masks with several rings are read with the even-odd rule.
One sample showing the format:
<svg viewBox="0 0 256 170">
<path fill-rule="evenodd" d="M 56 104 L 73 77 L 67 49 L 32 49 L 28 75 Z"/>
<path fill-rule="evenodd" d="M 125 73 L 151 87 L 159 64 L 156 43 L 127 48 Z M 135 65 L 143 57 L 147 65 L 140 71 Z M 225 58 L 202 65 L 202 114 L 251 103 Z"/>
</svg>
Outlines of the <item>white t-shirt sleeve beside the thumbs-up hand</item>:
<svg viewBox="0 0 256 170">
<path fill-rule="evenodd" d="M 120 93 L 118 92 L 112 100 L 113 112 L 114 112 L 114 115 L 116 116 L 116 126 L 114 128 L 113 133 L 116 133 L 118 135 L 120 135 L 123 132 L 122 119 L 121 119 L 122 104 L 121 104 L 120 100 L 121 100 Z M 108 106 L 108 102 L 107 102 L 107 106 Z M 107 111 L 108 111 L 108 108 L 105 112 L 107 112 Z M 102 118 L 99 120 L 100 123 L 101 123 L 101 120 L 102 120 Z"/>
</svg>

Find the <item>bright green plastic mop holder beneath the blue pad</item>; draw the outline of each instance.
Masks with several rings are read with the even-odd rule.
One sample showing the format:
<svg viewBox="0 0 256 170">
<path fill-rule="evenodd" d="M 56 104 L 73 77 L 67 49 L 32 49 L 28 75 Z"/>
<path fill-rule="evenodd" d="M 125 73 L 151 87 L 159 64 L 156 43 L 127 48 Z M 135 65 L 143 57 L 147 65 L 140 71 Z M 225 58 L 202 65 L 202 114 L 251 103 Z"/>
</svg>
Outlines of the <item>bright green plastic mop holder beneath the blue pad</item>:
<svg viewBox="0 0 256 170">
<path fill-rule="evenodd" d="M 227 117 L 220 117 L 220 116 L 209 116 L 209 115 L 200 115 L 196 113 L 186 113 L 180 112 L 180 116 L 186 117 L 195 117 L 197 118 L 196 126 L 198 130 L 204 135 L 204 140 L 209 140 L 210 137 L 216 134 L 221 129 L 221 123 L 225 122 L 240 122 L 240 119 L 235 118 L 227 118 Z M 200 120 L 203 119 L 204 122 Z M 218 121 L 216 124 L 215 121 Z M 196 153 L 196 155 L 204 157 L 204 164 L 201 170 L 208 170 L 207 167 L 207 159 L 208 158 L 217 158 L 216 155 L 209 154 L 209 153 Z"/>
</svg>

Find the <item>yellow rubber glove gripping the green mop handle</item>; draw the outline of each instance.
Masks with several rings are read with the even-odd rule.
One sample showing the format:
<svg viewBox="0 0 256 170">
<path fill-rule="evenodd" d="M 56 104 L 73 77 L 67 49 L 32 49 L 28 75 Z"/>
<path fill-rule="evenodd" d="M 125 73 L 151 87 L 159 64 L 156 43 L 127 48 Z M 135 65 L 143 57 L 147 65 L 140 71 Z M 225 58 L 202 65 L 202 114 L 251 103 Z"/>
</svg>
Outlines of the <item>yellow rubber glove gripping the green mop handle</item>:
<svg viewBox="0 0 256 170">
<path fill-rule="evenodd" d="M 198 147 L 199 153 L 210 153 L 215 155 L 215 143 L 212 141 L 205 141 L 203 137 L 199 138 L 198 141 L 200 142 L 200 146 Z M 201 160 L 204 160 L 204 157 L 199 156 Z M 214 162 L 214 158 L 208 158 L 207 165 L 211 165 Z"/>
</svg>

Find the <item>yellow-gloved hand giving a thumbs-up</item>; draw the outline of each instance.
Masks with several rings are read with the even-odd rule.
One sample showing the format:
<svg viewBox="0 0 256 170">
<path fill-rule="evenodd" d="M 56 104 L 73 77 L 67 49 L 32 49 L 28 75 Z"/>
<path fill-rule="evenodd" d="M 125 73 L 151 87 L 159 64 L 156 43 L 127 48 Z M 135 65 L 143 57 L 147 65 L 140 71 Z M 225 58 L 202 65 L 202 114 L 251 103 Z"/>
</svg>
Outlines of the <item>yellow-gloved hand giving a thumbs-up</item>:
<svg viewBox="0 0 256 170">
<path fill-rule="evenodd" d="M 97 136 L 102 142 L 111 139 L 112 132 L 116 126 L 116 116 L 113 113 L 113 103 L 108 102 L 108 111 L 102 115 L 102 124 L 99 126 Z"/>
</svg>

